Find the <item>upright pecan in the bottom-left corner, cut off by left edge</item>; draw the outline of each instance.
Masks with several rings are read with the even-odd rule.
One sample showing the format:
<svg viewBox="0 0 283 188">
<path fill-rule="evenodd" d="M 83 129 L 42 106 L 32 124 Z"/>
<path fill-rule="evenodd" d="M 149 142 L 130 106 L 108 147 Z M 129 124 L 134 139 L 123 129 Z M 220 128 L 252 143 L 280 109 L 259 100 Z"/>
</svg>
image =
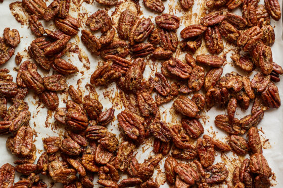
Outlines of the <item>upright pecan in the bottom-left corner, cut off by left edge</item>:
<svg viewBox="0 0 283 188">
<path fill-rule="evenodd" d="M 15 168 L 9 163 L 4 164 L 0 168 L 0 186 L 11 188 L 14 184 Z"/>
</svg>

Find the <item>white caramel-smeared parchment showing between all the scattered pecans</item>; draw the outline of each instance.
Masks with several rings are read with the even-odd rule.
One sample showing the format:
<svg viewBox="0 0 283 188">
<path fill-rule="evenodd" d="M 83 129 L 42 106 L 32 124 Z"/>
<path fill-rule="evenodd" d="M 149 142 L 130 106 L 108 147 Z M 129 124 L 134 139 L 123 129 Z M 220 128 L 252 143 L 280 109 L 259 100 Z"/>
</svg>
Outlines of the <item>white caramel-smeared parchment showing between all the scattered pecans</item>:
<svg viewBox="0 0 283 188">
<path fill-rule="evenodd" d="M 90 0 L 93 1 L 93 0 Z M 29 55 L 27 53 L 27 47 L 31 43 L 33 39 L 35 39 L 35 36 L 31 33 L 31 31 L 28 28 L 27 25 L 27 18 L 26 15 L 22 12 L 21 7 L 19 7 L 20 3 L 14 3 L 16 1 L 10 1 L 10 0 L 4 0 L 4 3 L 0 4 L 0 32 L 2 32 L 6 27 L 16 28 L 18 29 L 20 36 L 21 36 L 21 43 L 15 50 L 15 55 L 19 52 L 22 54 L 23 61 L 29 59 Z M 152 18 L 152 21 L 154 22 L 154 17 L 158 16 L 158 14 L 154 14 L 147 9 L 144 8 L 142 1 L 140 2 L 140 11 L 143 13 L 143 15 L 140 14 L 140 16 L 150 17 Z M 9 4 L 12 4 L 11 9 L 9 9 Z M 51 2 L 46 2 L 47 5 L 49 5 Z M 280 6 L 281 6 L 281 2 Z M 199 23 L 199 20 L 202 16 L 204 16 L 205 13 L 205 1 L 196 0 L 195 4 L 193 6 L 193 9 L 187 12 L 183 12 L 180 8 L 180 5 L 177 0 L 167 0 L 164 1 L 165 4 L 165 11 L 163 13 L 170 13 L 181 17 L 181 24 L 180 28 L 178 29 L 177 33 L 179 35 L 180 31 L 192 24 Z M 263 4 L 261 1 L 260 4 Z M 137 11 L 136 4 L 133 3 L 133 1 L 120 1 L 119 5 L 115 7 L 109 8 L 107 7 L 107 11 L 109 11 L 109 15 L 112 15 L 112 19 L 114 21 L 114 26 L 117 25 L 117 21 L 119 18 L 119 14 L 126 8 L 131 9 L 132 11 Z M 83 2 L 79 0 L 72 0 L 71 1 L 71 8 L 70 8 L 70 15 L 74 18 L 78 18 L 78 20 L 81 23 L 81 29 L 86 28 L 85 27 L 85 20 L 87 16 L 90 16 L 92 13 L 95 13 L 99 9 L 104 9 L 104 6 L 99 5 L 96 2 Z M 235 10 L 235 13 L 241 13 L 240 10 Z M 18 19 L 22 18 L 22 24 L 17 22 L 15 17 Z M 43 22 L 41 21 L 44 28 L 48 29 L 54 29 L 55 26 L 52 22 Z M 271 25 L 274 27 L 275 31 L 275 43 L 273 44 L 272 52 L 273 52 L 273 61 L 276 62 L 278 65 L 283 66 L 282 59 L 283 59 L 283 41 L 281 38 L 282 35 L 282 22 L 279 20 L 278 22 L 275 22 L 274 20 L 271 20 Z M 96 33 L 98 36 L 100 33 Z M 88 91 L 85 88 L 86 83 L 89 83 L 90 75 L 93 73 L 93 71 L 96 70 L 96 68 L 99 65 L 102 65 L 102 60 L 95 55 L 91 55 L 89 51 L 86 49 L 86 47 L 81 43 L 80 41 L 80 32 L 78 36 L 72 37 L 71 42 L 75 45 L 77 44 L 79 47 L 79 53 L 68 53 L 63 58 L 65 60 L 71 61 L 72 64 L 76 65 L 79 68 L 80 73 L 77 73 L 76 75 L 68 76 L 67 77 L 67 83 L 68 85 L 74 85 L 75 88 L 79 87 L 84 95 L 88 93 Z M 117 36 L 116 36 L 117 37 Z M 179 37 L 180 38 L 180 37 Z M 225 73 L 236 71 L 242 75 L 247 75 L 243 73 L 240 69 L 233 67 L 232 61 L 229 58 L 231 53 L 235 51 L 236 49 L 234 47 L 231 47 L 227 44 L 225 44 L 225 49 L 220 54 L 222 56 L 227 56 L 227 64 L 223 67 Z M 203 42 L 202 46 L 198 49 L 198 51 L 195 53 L 195 55 L 201 54 L 201 53 L 207 53 L 205 48 L 205 43 Z M 180 58 L 181 60 L 184 60 L 184 54 L 181 53 L 178 49 L 175 56 Z M 10 73 L 14 77 L 14 81 L 16 81 L 16 75 L 17 72 L 14 71 L 14 68 L 17 67 L 15 64 L 15 55 L 8 61 L 6 64 L 0 66 L 0 68 L 7 68 L 10 70 Z M 23 62 L 22 61 L 22 62 Z M 161 61 L 152 62 L 151 60 L 148 60 L 146 71 L 144 73 L 144 77 L 148 78 L 150 75 L 154 75 L 156 71 L 160 72 L 160 63 Z M 258 71 L 258 70 L 256 70 Z M 256 71 L 253 72 L 252 75 L 249 75 L 250 78 L 253 78 L 253 75 L 256 74 Z M 41 74 L 41 76 L 48 76 L 53 73 L 53 70 L 50 71 L 50 73 L 44 72 L 38 69 L 38 72 Z M 279 83 L 275 83 L 276 86 L 279 89 L 280 97 L 283 99 L 283 81 Z M 99 94 L 99 100 L 103 104 L 104 109 L 106 110 L 112 106 L 112 102 L 114 103 L 115 107 L 115 121 L 112 121 L 111 124 L 108 126 L 108 130 L 111 130 L 113 133 L 119 135 L 118 131 L 118 122 L 116 120 L 116 115 L 122 111 L 123 105 L 122 101 L 119 99 L 119 91 L 116 88 L 116 85 L 113 83 L 107 88 L 105 87 L 97 87 L 96 88 L 97 93 Z M 192 96 L 192 94 L 188 95 Z M 68 97 L 67 92 L 61 92 L 59 93 L 60 104 L 59 107 L 65 107 L 65 103 L 63 101 L 66 101 L 67 99 L 70 99 Z M 29 110 L 31 112 L 31 120 L 30 120 L 30 127 L 32 127 L 36 131 L 35 139 L 35 145 L 37 147 L 37 158 L 40 156 L 40 153 L 44 151 L 43 144 L 42 144 L 42 138 L 50 137 L 50 136 L 62 136 L 64 134 L 64 130 L 54 124 L 54 112 L 48 111 L 46 108 L 43 107 L 43 104 L 41 104 L 38 101 L 38 97 L 35 97 L 34 93 L 30 91 L 29 95 L 25 98 L 25 101 L 29 104 Z M 160 106 L 160 112 L 162 114 L 162 119 L 170 124 L 173 123 L 179 123 L 180 117 L 178 115 L 174 114 L 174 110 L 171 108 L 172 101 L 163 104 Z M 11 104 L 9 104 L 11 105 Z M 252 103 L 251 103 L 252 105 Z M 217 138 L 222 141 L 226 141 L 227 134 L 223 131 L 217 129 L 214 125 L 214 118 L 218 114 L 225 113 L 224 110 L 218 109 L 213 107 L 210 111 L 205 112 L 203 114 L 203 118 L 201 119 L 201 122 L 204 125 L 205 128 L 205 134 L 208 134 L 214 138 Z M 248 110 L 242 111 L 241 109 L 237 109 L 236 116 L 238 118 L 243 117 L 244 115 L 251 113 L 251 106 Z M 169 125 L 170 125 L 169 124 Z M 265 111 L 264 118 L 258 125 L 258 129 L 260 130 L 260 136 L 261 136 L 261 142 L 263 145 L 263 155 L 268 161 L 269 166 L 272 168 L 272 172 L 274 173 L 272 175 L 271 183 L 274 187 L 282 187 L 283 186 L 283 158 L 282 158 L 282 151 L 283 151 L 283 108 L 282 106 L 278 109 L 269 109 Z M 13 161 L 16 160 L 16 157 L 14 157 L 7 149 L 6 149 L 6 140 L 9 136 L 1 136 L 0 137 L 0 165 L 3 165 L 7 162 L 13 164 Z M 121 137 L 117 136 L 117 138 L 121 141 Z M 149 155 L 154 155 L 152 151 L 152 145 L 153 145 L 153 139 L 149 139 L 146 141 L 146 144 L 143 146 L 140 146 L 138 149 L 138 152 L 136 152 L 136 158 L 139 162 L 143 162 L 144 159 L 146 159 Z M 229 170 L 229 176 L 225 183 L 221 185 L 214 185 L 214 187 L 231 187 L 231 175 L 234 169 L 235 165 L 240 165 L 241 161 L 245 159 L 245 157 L 238 157 L 237 155 L 233 155 L 231 152 L 227 154 L 220 154 L 217 153 L 217 157 L 215 160 L 216 162 L 224 161 L 226 163 L 227 169 Z M 249 156 L 247 156 L 249 157 Z M 164 176 L 164 161 L 165 158 L 160 162 L 159 167 L 155 171 L 154 179 L 160 183 L 163 184 L 160 187 L 169 187 L 168 184 L 165 182 L 165 176 Z M 125 177 L 125 176 L 123 176 Z M 19 174 L 16 174 L 15 182 L 17 182 L 19 179 Z M 123 179 L 123 178 L 121 178 Z M 61 187 L 60 183 L 56 183 L 55 185 L 51 183 L 49 178 L 43 177 L 43 180 L 48 183 L 49 186 L 56 186 Z M 97 175 L 95 179 L 95 187 L 99 187 L 99 185 L 96 183 Z"/>
</svg>

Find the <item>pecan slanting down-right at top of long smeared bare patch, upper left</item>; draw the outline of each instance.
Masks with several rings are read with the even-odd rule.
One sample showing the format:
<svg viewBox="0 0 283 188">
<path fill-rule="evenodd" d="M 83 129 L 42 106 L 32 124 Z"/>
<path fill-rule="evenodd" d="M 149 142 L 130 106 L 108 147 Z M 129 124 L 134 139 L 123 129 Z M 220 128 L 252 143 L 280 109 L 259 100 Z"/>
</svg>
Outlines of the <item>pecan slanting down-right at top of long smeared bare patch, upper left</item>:
<svg viewBox="0 0 283 188">
<path fill-rule="evenodd" d="M 91 53 L 99 55 L 101 43 L 99 39 L 93 35 L 91 32 L 87 30 L 81 31 L 81 40 L 86 45 L 86 47 L 90 50 Z"/>
</svg>

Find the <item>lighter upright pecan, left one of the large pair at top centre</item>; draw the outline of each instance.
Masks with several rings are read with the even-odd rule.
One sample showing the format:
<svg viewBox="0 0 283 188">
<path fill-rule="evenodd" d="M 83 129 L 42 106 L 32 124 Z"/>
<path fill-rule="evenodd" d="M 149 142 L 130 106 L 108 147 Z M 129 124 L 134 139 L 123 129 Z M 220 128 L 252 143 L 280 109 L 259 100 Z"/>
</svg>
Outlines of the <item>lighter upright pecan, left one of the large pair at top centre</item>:
<svg viewBox="0 0 283 188">
<path fill-rule="evenodd" d="M 129 9 L 126 9 L 120 14 L 118 21 L 117 32 L 121 39 L 128 39 L 132 26 L 135 24 L 136 15 Z"/>
</svg>

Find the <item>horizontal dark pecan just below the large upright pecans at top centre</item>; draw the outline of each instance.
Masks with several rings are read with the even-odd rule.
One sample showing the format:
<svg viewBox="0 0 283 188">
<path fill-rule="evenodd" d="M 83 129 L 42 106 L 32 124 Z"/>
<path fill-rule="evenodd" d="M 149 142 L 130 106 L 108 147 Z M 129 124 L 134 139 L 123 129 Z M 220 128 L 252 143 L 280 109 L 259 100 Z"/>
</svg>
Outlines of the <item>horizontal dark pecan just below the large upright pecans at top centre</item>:
<svg viewBox="0 0 283 188">
<path fill-rule="evenodd" d="M 150 43 L 139 43 L 131 47 L 130 52 L 134 58 L 145 57 L 154 51 L 154 47 Z"/>
</svg>

